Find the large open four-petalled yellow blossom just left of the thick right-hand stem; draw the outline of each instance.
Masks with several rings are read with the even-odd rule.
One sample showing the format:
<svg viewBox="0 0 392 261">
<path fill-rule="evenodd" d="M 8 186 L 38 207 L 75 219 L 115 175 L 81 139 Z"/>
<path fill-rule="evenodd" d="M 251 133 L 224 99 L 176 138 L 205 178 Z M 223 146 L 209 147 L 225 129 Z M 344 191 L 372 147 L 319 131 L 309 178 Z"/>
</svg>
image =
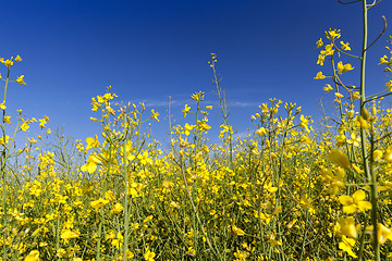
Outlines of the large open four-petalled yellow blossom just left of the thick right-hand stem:
<svg viewBox="0 0 392 261">
<path fill-rule="evenodd" d="M 352 197 L 343 195 L 339 197 L 339 201 L 343 204 L 344 213 L 354 213 L 354 212 L 365 212 L 371 209 L 371 203 L 369 201 L 365 201 L 366 195 L 362 189 L 356 190 Z"/>
</svg>

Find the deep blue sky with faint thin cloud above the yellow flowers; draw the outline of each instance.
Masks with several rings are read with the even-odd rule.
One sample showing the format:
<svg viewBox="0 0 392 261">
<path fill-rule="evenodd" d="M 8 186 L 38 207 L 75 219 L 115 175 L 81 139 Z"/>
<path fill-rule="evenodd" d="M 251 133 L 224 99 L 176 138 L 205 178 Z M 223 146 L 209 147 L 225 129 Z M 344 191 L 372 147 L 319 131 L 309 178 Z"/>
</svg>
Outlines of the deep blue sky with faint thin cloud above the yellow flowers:
<svg viewBox="0 0 392 261">
<path fill-rule="evenodd" d="M 314 79 L 324 70 L 316 64 L 315 42 L 328 28 L 340 28 L 352 52 L 362 45 L 360 3 L 334 0 L 19 0 L 2 3 L 1 57 L 20 54 L 12 76 L 25 75 L 26 86 L 8 92 L 8 111 L 23 109 L 27 117 L 50 117 L 49 127 L 85 139 L 99 133 L 90 99 L 111 85 L 118 101 L 144 101 L 161 115 L 154 123 L 160 140 L 168 140 L 167 107 L 173 100 L 176 123 L 189 96 L 206 92 L 211 134 L 221 123 L 212 94 L 210 53 L 226 90 L 230 122 L 236 132 L 252 127 L 250 115 L 269 98 L 296 102 L 305 115 L 319 119 L 318 99 L 331 101 Z M 369 40 L 383 27 L 391 1 L 370 10 Z M 385 52 L 388 29 L 368 59 L 369 89 L 383 88 L 377 65 Z M 358 84 L 356 69 L 347 73 Z M 1 71 L 4 74 L 4 71 Z M 370 87 L 371 86 L 371 87 Z M 151 107 L 152 105 L 152 107 Z M 148 114 L 146 114 L 148 115 Z M 191 121 L 191 120 L 189 120 Z"/>
</svg>

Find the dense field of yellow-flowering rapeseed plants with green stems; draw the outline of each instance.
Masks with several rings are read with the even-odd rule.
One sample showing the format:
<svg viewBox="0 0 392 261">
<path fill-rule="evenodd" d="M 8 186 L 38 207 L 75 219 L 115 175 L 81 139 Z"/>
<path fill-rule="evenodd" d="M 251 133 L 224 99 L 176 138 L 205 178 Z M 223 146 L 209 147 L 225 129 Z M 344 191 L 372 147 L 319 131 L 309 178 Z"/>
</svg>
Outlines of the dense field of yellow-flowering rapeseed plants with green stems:
<svg viewBox="0 0 392 261">
<path fill-rule="evenodd" d="M 366 54 L 380 37 L 367 41 L 367 11 L 378 2 L 360 2 L 362 50 L 339 29 L 316 42 L 315 79 L 336 112 L 319 132 L 301 107 L 270 99 L 252 115 L 254 134 L 235 138 L 211 53 L 219 142 L 207 139 L 212 107 L 203 92 L 184 104 L 187 123 L 171 126 L 162 151 L 143 133 L 159 113 L 118 103 L 108 87 L 91 99 L 97 135 L 58 134 L 45 146 L 47 116 L 7 111 L 7 91 L 25 82 L 10 77 L 22 58 L 1 58 L 1 260 L 392 260 L 392 80 L 365 92 Z M 391 76 L 391 41 L 385 48 L 379 65 Z M 344 80 L 353 70 L 359 86 Z M 30 127 L 41 134 L 19 148 Z"/>
</svg>

